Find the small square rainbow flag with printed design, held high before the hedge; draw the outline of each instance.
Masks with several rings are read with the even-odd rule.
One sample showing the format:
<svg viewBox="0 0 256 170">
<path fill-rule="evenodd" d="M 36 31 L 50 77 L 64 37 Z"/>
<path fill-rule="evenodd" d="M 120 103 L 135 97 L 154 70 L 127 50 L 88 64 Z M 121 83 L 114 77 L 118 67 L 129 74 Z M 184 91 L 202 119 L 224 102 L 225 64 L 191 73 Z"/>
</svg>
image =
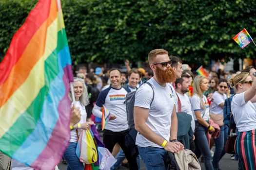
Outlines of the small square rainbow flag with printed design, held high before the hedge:
<svg viewBox="0 0 256 170">
<path fill-rule="evenodd" d="M 253 38 L 245 28 L 242 31 L 240 31 L 238 34 L 236 34 L 236 36 L 234 36 L 233 39 L 242 49 L 245 48 L 245 46 L 247 46 L 248 44 L 250 44 L 250 42 L 253 41 Z"/>
</svg>

